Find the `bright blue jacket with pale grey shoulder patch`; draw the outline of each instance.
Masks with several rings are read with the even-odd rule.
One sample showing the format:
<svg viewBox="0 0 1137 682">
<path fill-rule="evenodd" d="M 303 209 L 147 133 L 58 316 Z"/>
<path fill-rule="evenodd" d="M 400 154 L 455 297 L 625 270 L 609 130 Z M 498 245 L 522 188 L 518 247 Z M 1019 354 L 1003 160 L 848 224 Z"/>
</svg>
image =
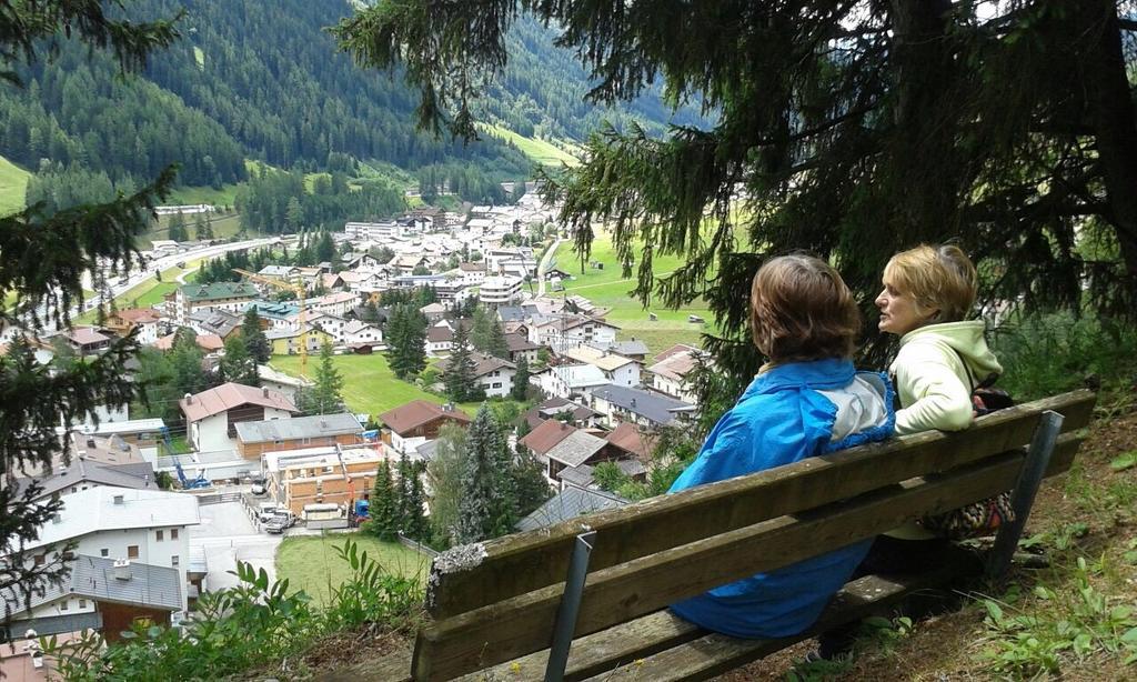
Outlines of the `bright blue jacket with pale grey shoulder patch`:
<svg viewBox="0 0 1137 682">
<path fill-rule="evenodd" d="M 861 381 L 854 383 L 854 379 Z M 865 386 L 873 396 L 866 397 Z M 860 388 L 853 396 L 850 389 Z M 843 393 L 845 392 L 845 393 Z M 827 394 L 829 397 L 827 397 Z M 847 400 L 853 396 L 850 400 Z M 832 399 L 831 399 L 832 398 Z M 872 402 L 871 410 L 843 408 L 841 432 L 849 411 L 858 411 L 855 431 L 833 440 L 837 402 Z M 871 411 L 871 414 L 869 414 Z M 893 434 L 893 388 L 877 373 L 857 373 L 841 359 L 791 363 L 760 374 L 738 402 L 719 419 L 698 457 L 675 480 L 671 492 L 723 481 L 832 452 Z M 770 573 L 715 588 L 673 604 L 672 610 L 708 630 L 740 638 L 797 634 L 813 624 L 869 551 L 871 540 L 798 562 Z"/>
</svg>

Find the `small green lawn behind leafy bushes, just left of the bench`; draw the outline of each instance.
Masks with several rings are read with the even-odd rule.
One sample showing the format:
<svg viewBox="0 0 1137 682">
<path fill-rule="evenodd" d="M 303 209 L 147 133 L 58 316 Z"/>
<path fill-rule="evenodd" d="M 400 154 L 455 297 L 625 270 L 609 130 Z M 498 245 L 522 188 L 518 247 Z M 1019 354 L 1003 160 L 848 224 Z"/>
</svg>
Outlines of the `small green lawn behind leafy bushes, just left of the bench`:
<svg viewBox="0 0 1137 682">
<path fill-rule="evenodd" d="M 331 590 L 351 577 L 351 567 L 339 557 L 335 547 L 342 547 L 350 537 L 387 571 L 425 582 L 430 559 L 398 542 L 380 542 L 362 533 L 335 533 L 322 537 L 285 538 L 276 550 L 276 577 L 288 579 L 291 590 L 304 590 L 317 605 L 331 599 Z"/>
</svg>

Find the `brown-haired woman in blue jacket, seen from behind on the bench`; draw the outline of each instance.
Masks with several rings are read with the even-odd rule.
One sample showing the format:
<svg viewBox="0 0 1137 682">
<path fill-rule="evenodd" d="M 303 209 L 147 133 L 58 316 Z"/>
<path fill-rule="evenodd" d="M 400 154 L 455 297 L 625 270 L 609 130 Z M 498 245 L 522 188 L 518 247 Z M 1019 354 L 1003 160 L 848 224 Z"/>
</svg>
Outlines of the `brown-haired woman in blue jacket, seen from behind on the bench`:
<svg viewBox="0 0 1137 682">
<path fill-rule="evenodd" d="M 750 290 L 754 344 L 769 363 L 719 419 L 671 491 L 761 472 L 893 433 L 893 389 L 885 375 L 855 372 L 861 331 L 856 301 L 818 258 L 767 261 Z M 864 558 L 854 542 L 760 573 L 671 606 L 709 630 L 742 638 L 786 637 L 813 624 Z"/>
</svg>

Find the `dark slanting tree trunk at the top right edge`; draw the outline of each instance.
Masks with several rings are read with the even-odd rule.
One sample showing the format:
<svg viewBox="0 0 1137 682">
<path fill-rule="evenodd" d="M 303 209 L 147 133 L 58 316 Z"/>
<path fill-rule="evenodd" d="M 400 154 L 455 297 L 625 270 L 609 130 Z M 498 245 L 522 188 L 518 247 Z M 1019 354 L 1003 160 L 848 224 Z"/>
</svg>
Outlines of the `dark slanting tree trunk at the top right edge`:
<svg viewBox="0 0 1137 682">
<path fill-rule="evenodd" d="M 1126 268 L 1123 286 L 1127 298 L 1137 301 L 1137 116 L 1121 51 L 1121 26 L 1113 0 L 1087 1 L 1076 15 L 1080 20 L 1074 25 L 1085 26 L 1082 75 L 1111 222 Z"/>
</svg>

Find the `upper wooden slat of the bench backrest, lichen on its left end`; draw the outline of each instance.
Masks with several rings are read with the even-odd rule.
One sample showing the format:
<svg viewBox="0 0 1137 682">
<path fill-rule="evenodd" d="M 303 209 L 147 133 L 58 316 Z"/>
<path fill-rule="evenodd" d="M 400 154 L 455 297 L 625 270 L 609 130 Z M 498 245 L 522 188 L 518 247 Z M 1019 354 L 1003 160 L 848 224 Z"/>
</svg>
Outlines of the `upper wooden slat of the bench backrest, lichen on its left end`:
<svg viewBox="0 0 1137 682">
<path fill-rule="evenodd" d="M 437 619 L 473 610 L 564 581 L 575 537 L 596 530 L 591 571 L 861 494 L 912 476 L 977 461 L 1030 441 L 1043 411 L 1065 421 L 1063 431 L 1086 426 L 1095 396 L 1073 391 L 980 417 L 968 431 L 928 432 L 888 443 L 812 457 L 632 507 L 603 512 L 550 529 L 509 535 L 480 547 L 479 558 L 443 555 L 431 568 L 426 608 Z"/>
</svg>

